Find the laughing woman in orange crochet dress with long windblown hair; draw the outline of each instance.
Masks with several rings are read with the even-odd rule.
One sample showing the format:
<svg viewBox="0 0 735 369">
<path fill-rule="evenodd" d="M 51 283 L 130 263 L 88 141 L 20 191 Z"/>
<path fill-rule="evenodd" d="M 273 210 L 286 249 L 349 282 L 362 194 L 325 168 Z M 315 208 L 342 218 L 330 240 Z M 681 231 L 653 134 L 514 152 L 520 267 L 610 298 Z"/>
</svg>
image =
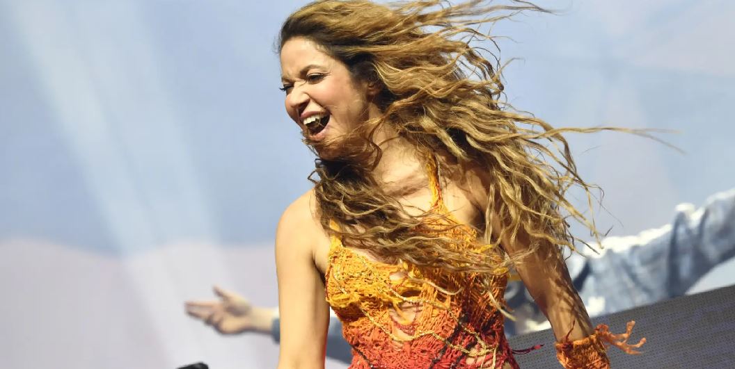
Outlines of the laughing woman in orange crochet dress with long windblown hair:
<svg viewBox="0 0 735 369">
<path fill-rule="evenodd" d="M 567 368 L 609 365 L 561 250 L 576 173 L 564 131 L 501 103 L 498 67 L 468 42 L 525 2 L 483 7 L 318 1 L 280 33 L 289 116 L 318 155 L 314 189 L 276 233 L 279 368 L 322 368 L 329 307 L 351 368 L 517 368 L 503 335 L 513 268 Z M 547 148 L 560 147 L 558 151 Z M 550 161 L 546 161 L 548 160 Z M 510 316 L 510 315 L 509 315 Z M 619 339 L 616 341 L 616 339 Z"/>
</svg>

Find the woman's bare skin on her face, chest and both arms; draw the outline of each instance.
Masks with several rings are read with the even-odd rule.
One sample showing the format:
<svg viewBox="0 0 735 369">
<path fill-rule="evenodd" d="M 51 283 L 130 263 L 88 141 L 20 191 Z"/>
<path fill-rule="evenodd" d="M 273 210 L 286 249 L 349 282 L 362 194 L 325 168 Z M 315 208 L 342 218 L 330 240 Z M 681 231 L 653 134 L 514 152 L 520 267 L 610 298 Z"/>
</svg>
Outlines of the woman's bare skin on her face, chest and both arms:
<svg viewBox="0 0 735 369">
<path fill-rule="evenodd" d="M 284 43 L 281 52 L 282 81 L 287 93 L 285 108 L 301 128 L 304 113 L 329 112 L 329 125 L 323 139 L 338 140 L 358 125 L 381 114 L 373 102 L 379 89 L 355 81 L 348 68 L 325 54 L 318 45 L 301 37 Z M 376 134 L 376 143 L 384 150 L 373 175 L 387 191 L 397 193 L 406 183 L 417 183 L 414 191 L 401 191 L 398 200 L 413 205 L 417 211 L 428 210 L 431 192 L 423 161 L 390 128 Z M 318 152 L 322 158 L 339 156 L 339 145 Z M 440 161 L 451 167 L 452 158 L 438 153 Z M 442 192 L 445 204 L 459 222 L 484 227 L 487 196 L 483 189 L 490 178 L 482 168 L 466 172 L 444 173 Z M 411 186 L 409 186 L 411 187 Z M 325 299 L 324 274 L 330 239 L 318 220 L 313 191 L 307 191 L 284 211 L 276 231 L 276 272 L 279 282 L 279 310 L 282 341 L 279 369 L 323 368 L 329 305 Z M 492 212 L 492 229 L 502 224 Z M 528 238 L 503 239 L 511 255 L 528 249 Z M 543 247 L 549 246 L 549 247 Z M 555 250 L 550 245 L 539 249 Z M 366 257 L 372 257 L 362 250 Z M 558 252 L 536 252 L 516 266 L 531 296 L 549 318 L 557 340 L 567 336 L 576 340 L 592 334 L 592 328 L 576 291 L 572 288 L 566 266 Z M 478 359 L 490 361 L 490 359 Z"/>
</svg>

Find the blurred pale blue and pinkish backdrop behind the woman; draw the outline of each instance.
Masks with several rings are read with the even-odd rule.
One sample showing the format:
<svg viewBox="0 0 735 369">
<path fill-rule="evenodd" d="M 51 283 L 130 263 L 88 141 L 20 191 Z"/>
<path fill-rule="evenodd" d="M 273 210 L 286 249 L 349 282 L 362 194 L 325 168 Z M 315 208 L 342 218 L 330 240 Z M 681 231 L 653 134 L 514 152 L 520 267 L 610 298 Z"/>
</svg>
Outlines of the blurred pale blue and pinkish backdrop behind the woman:
<svg viewBox="0 0 735 369">
<path fill-rule="evenodd" d="M 269 337 L 184 314 L 214 283 L 275 305 L 273 235 L 312 153 L 273 43 L 304 1 L 0 0 L 0 357 L 7 368 L 273 368 Z M 539 1 L 499 23 L 506 92 L 570 136 L 631 235 L 735 186 L 735 3 Z M 735 283 L 726 263 L 690 292 Z M 344 368 L 329 362 L 328 368 Z"/>
</svg>

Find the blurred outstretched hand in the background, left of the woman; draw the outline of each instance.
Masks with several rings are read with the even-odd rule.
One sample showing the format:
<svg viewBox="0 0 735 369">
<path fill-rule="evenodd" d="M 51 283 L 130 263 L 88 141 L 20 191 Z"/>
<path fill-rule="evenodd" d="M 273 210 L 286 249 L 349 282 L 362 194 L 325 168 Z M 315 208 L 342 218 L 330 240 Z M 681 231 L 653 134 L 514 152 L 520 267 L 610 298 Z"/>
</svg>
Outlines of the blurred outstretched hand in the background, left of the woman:
<svg viewBox="0 0 735 369">
<path fill-rule="evenodd" d="M 253 306 L 243 296 L 214 287 L 218 300 L 186 302 L 189 315 L 211 325 L 223 335 L 254 331 L 269 333 L 275 310 Z"/>
</svg>

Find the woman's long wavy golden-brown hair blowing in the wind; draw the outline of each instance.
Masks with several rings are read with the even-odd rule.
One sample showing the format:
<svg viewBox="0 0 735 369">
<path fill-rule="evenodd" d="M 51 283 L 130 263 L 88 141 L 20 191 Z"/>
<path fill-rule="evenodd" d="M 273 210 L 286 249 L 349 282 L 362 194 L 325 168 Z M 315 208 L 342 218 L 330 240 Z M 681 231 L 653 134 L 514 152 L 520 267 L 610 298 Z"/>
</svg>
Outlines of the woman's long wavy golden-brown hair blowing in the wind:
<svg viewBox="0 0 735 369">
<path fill-rule="evenodd" d="M 476 45 L 495 45 L 492 36 L 479 31 L 480 26 L 523 11 L 545 12 L 526 1 L 382 5 L 326 0 L 308 4 L 287 18 L 279 50 L 293 37 L 305 37 L 345 63 L 357 80 L 382 87 L 376 102 L 383 114 L 363 125 L 362 144 L 345 148 L 340 158 L 317 159 L 309 177 L 315 183 L 324 229 L 344 244 L 368 249 L 384 260 L 451 272 L 489 275 L 517 261 L 477 251 L 482 248 L 460 247 L 448 237 L 417 232 L 434 215 L 409 215 L 395 194 L 381 188 L 370 174 L 381 156 L 373 134 L 389 125 L 423 155 L 449 154 L 453 162 L 438 163 L 444 175 L 477 168 L 487 172 L 490 183 L 477 189 L 488 199 L 480 240 L 485 245 L 499 246 L 505 237 L 523 238 L 529 247 L 527 253 L 517 255 L 519 260 L 539 247 L 554 253 L 556 246 L 574 249 L 581 240 L 570 233 L 567 221 L 571 219 L 599 237 L 591 216 L 567 200 L 567 190 L 578 186 L 587 193 L 591 209 L 594 186 L 578 175 L 562 134 L 617 128 L 553 128 L 517 112 L 503 101 L 498 58 Z M 500 230 L 492 230 L 491 216 L 500 220 Z"/>
</svg>

